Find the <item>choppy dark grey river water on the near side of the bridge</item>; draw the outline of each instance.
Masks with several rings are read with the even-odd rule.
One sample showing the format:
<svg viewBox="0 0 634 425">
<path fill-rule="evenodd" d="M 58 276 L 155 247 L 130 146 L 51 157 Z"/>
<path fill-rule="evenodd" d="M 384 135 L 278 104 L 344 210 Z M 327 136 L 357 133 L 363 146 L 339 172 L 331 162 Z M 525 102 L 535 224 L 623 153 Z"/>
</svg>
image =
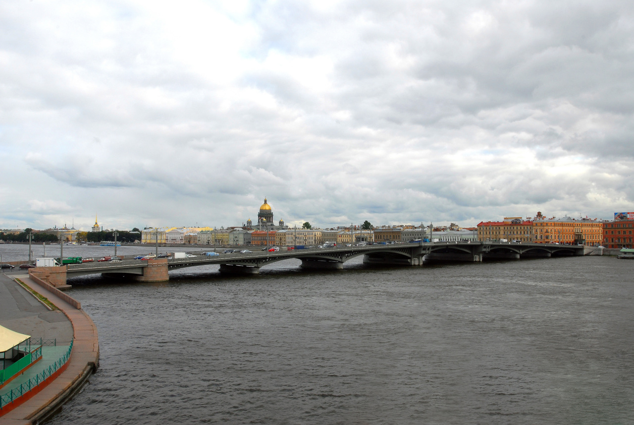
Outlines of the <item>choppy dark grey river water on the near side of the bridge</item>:
<svg viewBox="0 0 634 425">
<path fill-rule="evenodd" d="M 76 279 L 101 368 L 53 424 L 630 424 L 634 261 Z"/>
</svg>

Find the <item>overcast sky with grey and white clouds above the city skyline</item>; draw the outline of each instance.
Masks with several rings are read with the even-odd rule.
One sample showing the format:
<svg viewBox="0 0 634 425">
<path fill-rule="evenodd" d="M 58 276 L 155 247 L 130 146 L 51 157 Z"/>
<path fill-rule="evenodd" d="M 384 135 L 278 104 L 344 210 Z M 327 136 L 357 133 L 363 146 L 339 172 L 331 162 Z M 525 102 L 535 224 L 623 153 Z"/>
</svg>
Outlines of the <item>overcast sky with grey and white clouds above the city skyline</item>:
<svg viewBox="0 0 634 425">
<path fill-rule="evenodd" d="M 631 1 L 0 3 L 0 227 L 634 211 Z"/>
</svg>

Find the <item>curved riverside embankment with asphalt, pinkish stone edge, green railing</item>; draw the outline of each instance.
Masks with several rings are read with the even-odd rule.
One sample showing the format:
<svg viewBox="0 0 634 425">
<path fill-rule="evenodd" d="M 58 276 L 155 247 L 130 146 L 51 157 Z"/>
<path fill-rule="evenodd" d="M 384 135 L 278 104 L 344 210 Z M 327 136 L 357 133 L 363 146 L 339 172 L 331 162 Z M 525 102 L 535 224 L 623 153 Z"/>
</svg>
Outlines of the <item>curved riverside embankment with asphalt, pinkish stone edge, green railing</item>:
<svg viewBox="0 0 634 425">
<path fill-rule="evenodd" d="M 55 309 L 27 288 L 46 298 Z M 37 360 L 0 385 L 0 425 L 47 421 L 96 371 L 96 326 L 78 301 L 22 274 L 0 276 L 0 324 L 30 336 L 30 346 L 41 345 L 34 351 L 39 352 Z"/>
</svg>

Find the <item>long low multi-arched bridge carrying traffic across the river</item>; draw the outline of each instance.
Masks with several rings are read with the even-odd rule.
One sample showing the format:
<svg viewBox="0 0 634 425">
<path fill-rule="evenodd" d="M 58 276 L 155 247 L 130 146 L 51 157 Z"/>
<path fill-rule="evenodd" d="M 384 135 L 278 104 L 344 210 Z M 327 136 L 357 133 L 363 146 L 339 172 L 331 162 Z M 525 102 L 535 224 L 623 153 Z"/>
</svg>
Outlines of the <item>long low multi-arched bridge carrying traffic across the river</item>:
<svg viewBox="0 0 634 425">
<path fill-rule="evenodd" d="M 139 282 L 169 280 L 169 270 L 204 265 L 219 265 L 221 272 L 258 273 L 263 266 L 287 259 L 301 260 L 302 268 L 336 270 L 346 261 L 363 256 L 372 265 L 421 266 L 429 261 L 486 261 L 551 256 L 583 256 L 596 254 L 597 249 L 584 245 L 514 244 L 508 242 L 430 242 L 423 244 L 365 245 L 352 247 L 296 249 L 288 251 L 256 251 L 247 253 L 196 255 L 171 259 L 127 259 L 117 262 L 83 263 L 29 271 L 57 287 L 67 278 L 100 273 L 107 277 L 131 277 Z"/>
</svg>

